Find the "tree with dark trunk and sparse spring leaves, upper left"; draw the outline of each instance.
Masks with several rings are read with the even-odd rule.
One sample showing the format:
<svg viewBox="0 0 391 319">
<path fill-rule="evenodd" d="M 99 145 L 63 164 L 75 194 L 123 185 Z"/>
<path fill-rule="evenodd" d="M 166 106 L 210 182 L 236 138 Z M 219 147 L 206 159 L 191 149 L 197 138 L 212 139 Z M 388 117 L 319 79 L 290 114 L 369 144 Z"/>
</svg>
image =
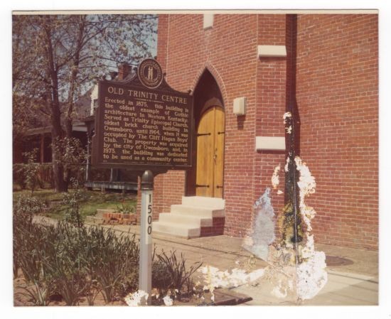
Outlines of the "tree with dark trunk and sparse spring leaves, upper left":
<svg viewBox="0 0 391 319">
<path fill-rule="evenodd" d="M 50 122 L 52 141 L 72 137 L 75 101 L 118 63 L 152 55 L 156 16 L 31 15 L 13 18 L 14 139 Z M 69 172 L 52 147 L 55 190 L 68 190 Z"/>
</svg>

